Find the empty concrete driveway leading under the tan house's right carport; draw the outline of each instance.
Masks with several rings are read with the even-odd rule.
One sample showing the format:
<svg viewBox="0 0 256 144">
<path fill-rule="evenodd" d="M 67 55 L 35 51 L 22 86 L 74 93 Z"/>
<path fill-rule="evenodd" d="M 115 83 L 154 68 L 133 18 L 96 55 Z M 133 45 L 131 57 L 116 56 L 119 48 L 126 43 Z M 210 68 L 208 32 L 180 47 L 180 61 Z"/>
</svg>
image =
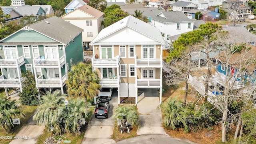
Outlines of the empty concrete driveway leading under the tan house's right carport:
<svg viewBox="0 0 256 144">
<path fill-rule="evenodd" d="M 159 92 L 157 88 L 140 88 L 139 91 L 143 93 L 138 96 L 137 108 L 140 113 L 141 127 L 137 130 L 137 134 L 166 135 L 162 128 L 162 113 L 158 109 Z"/>
</svg>

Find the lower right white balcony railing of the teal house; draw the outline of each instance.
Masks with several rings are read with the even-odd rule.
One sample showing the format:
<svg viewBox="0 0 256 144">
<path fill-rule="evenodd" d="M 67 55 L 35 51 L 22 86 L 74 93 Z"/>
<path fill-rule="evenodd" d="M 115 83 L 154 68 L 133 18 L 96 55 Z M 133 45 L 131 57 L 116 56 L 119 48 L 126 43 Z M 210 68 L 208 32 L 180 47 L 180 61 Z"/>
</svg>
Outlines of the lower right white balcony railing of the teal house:
<svg viewBox="0 0 256 144">
<path fill-rule="evenodd" d="M 43 79 L 43 75 L 37 78 L 38 86 L 62 86 L 62 84 L 66 81 L 66 75 L 62 77 L 62 79 Z"/>
</svg>

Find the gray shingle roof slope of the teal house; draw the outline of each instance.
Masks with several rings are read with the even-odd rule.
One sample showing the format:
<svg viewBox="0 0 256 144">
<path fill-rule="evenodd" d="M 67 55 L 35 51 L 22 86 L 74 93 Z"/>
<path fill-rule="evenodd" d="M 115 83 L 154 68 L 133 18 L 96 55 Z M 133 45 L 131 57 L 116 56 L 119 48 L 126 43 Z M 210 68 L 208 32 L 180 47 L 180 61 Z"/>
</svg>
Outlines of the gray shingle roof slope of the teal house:
<svg viewBox="0 0 256 144">
<path fill-rule="evenodd" d="M 47 23 L 48 22 L 48 23 Z M 62 44 L 67 44 L 72 39 L 74 39 L 78 34 L 83 32 L 82 28 L 79 28 L 65 20 L 61 20 L 60 18 L 53 16 L 40 22 L 36 22 L 34 24 L 30 24 L 27 27 L 40 32 Z"/>
</svg>

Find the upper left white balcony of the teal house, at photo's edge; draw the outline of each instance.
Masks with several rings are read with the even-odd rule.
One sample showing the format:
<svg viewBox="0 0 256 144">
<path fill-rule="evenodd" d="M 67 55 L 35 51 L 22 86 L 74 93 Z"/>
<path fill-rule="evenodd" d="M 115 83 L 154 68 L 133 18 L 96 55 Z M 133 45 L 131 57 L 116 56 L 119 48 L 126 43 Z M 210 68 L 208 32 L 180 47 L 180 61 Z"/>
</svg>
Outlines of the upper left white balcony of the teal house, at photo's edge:
<svg viewBox="0 0 256 144">
<path fill-rule="evenodd" d="M 16 59 L 0 59 L 0 68 L 18 68 L 25 64 L 24 56 Z"/>
</svg>

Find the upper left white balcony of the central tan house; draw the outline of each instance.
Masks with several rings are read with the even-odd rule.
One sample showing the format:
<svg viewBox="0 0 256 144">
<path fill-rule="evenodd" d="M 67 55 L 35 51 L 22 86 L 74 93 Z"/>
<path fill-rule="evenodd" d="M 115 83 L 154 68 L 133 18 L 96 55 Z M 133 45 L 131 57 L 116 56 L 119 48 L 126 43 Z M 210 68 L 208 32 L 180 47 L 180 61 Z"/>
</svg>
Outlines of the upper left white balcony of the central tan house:
<svg viewBox="0 0 256 144">
<path fill-rule="evenodd" d="M 114 58 L 95 58 L 92 57 L 92 66 L 94 68 L 118 68 L 120 65 L 120 55 Z"/>
</svg>

